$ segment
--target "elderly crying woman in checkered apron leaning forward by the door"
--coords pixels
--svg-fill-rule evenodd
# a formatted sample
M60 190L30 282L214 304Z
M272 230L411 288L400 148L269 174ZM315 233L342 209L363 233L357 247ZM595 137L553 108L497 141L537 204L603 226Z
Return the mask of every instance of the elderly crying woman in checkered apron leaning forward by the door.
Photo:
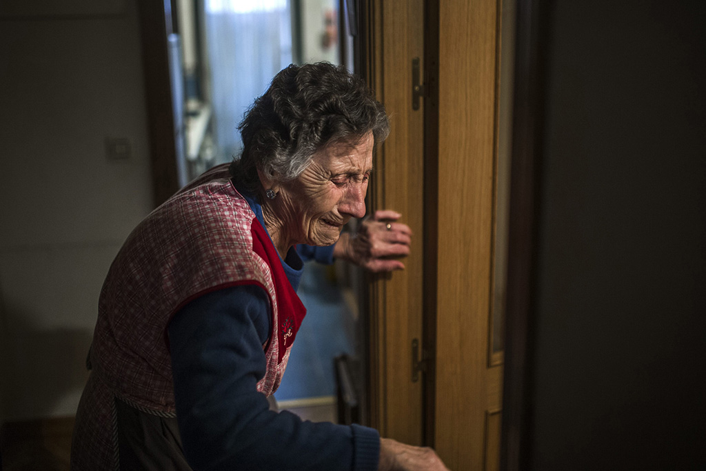
M153 211L112 264L73 470L445 469L429 449L268 405L305 314L300 252L402 268L378 257L407 254L409 228L375 220L397 213L335 244L364 216L373 148L388 128L382 105L343 68L275 76L240 126L239 160Z

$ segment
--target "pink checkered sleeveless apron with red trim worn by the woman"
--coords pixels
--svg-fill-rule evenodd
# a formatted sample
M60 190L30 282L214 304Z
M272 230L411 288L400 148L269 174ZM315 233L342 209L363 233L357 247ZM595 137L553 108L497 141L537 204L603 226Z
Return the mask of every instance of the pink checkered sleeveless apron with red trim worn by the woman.
M267 371L277 390L306 309L268 234L221 165L155 209L130 234L104 282L71 450L73 470L118 467L114 398L175 417L167 324L181 306L225 287L258 285L270 297Z

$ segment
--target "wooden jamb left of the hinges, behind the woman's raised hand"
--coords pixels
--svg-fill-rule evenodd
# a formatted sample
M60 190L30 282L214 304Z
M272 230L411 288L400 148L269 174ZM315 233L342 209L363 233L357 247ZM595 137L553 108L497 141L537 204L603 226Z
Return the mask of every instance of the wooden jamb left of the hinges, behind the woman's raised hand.
M424 381L412 381L412 340L426 349L424 105L412 109L412 59L424 60L424 0L361 1L358 14L358 71L384 103L392 129L376 152L369 210L397 210L414 233L405 270L367 275L367 415L382 436L420 445Z

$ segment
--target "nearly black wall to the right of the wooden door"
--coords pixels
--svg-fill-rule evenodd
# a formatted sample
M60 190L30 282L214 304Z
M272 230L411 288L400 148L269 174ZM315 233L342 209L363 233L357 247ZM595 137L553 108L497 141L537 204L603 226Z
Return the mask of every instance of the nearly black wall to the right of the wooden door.
M706 8L554 1L532 469L706 469Z

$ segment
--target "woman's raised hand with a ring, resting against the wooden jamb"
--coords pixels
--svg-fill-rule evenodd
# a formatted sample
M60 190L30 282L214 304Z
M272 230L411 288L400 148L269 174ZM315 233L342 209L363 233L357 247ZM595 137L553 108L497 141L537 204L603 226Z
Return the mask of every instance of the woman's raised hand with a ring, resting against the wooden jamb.
M394 257L409 255L412 229L397 222L402 215L393 210L377 210L358 225L354 234L341 234L333 256L344 258L374 273L404 270Z

